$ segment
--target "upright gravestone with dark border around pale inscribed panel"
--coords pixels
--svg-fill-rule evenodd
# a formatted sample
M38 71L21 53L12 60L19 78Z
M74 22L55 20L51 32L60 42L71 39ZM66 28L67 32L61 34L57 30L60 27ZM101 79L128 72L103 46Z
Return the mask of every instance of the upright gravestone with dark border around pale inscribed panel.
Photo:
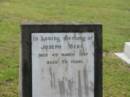
M21 97L102 97L101 25L22 25Z

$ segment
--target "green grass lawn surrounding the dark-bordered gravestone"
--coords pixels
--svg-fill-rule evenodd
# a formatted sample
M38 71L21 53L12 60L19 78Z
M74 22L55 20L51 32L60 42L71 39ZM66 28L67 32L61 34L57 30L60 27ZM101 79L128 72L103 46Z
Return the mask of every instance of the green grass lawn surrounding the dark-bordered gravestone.
M130 0L0 0L0 97L19 97L23 22L103 24L103 95L130 97L130 65L114 55L130 41Z

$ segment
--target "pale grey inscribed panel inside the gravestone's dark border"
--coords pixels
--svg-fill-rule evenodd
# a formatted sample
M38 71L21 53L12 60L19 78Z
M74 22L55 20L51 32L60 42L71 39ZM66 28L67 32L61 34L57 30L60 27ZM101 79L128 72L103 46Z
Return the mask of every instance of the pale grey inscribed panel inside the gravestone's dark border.
M94 97L94 33L32 33L32 97Z

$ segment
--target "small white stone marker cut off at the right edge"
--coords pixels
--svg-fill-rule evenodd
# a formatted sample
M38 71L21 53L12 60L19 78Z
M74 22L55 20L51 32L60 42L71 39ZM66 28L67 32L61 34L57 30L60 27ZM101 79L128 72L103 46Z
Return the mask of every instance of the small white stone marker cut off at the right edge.
M125 42L124 51L115 53L119 58L130 64L130 42Z

